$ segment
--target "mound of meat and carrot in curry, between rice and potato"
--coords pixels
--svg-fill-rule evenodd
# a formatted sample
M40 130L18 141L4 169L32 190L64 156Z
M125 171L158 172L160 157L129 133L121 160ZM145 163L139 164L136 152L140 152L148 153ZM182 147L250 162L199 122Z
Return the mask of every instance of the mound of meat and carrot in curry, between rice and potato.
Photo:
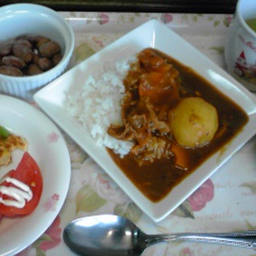
M168 125L169 105L179 99L175 77L178 70L150 49L138 55L124 79L122 126L111 125L108 134L119 140L135 142L131 154L138 164L172 154Z

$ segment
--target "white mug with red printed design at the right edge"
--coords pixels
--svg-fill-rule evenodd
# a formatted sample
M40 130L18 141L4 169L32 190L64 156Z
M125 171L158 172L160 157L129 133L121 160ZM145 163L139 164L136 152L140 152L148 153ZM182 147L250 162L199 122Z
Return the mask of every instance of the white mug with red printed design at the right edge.
M239 0L226 37L225 60L228 72L256 92L256 32L246 24L250 18L256 18L256 0Z

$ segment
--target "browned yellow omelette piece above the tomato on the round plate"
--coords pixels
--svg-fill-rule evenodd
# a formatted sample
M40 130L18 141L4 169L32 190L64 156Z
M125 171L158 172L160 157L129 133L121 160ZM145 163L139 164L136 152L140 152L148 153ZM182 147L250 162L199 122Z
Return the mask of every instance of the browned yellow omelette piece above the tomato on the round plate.
M12 151L15 149L26 150L28 142L26 139L10 134L0 126L0 166L6 166L12 162Z

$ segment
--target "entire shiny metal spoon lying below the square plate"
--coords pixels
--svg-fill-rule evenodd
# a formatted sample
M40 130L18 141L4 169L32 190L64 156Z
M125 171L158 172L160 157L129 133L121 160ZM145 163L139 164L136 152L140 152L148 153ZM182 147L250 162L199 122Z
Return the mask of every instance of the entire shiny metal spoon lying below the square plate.
M112 214L73 220L64 229L63 239L73 252L87 256L139 256L151 244L174 240L210 242L256 249L256 230L148 235L130 220Z

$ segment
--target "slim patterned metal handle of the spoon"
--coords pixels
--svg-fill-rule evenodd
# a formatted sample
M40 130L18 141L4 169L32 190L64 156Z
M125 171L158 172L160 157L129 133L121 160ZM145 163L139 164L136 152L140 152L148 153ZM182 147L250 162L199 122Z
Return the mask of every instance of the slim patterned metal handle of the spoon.
M256 230L227 233L173 233L148 235L148 246L157 242L185 240L209 242L256 249Z

